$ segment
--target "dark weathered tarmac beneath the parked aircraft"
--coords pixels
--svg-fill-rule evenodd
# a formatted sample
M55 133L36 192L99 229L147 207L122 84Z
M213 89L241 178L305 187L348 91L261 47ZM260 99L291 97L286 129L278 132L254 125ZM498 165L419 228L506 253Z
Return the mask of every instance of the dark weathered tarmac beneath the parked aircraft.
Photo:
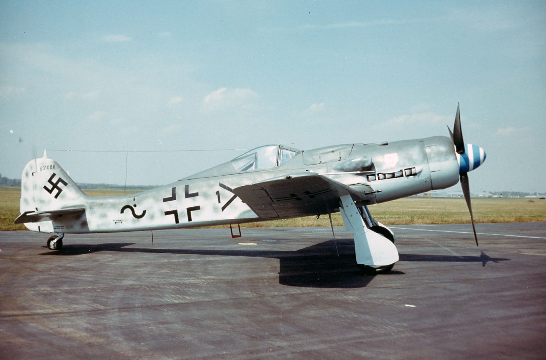
M0 358L546 357L546 223L392 226L375 277L336 227L0 232Z

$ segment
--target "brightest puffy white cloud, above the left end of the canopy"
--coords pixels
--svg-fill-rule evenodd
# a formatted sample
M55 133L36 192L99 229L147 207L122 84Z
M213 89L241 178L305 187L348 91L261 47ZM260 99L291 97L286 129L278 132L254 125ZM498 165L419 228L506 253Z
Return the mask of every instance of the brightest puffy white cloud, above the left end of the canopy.
M258 94L245 88L219 88L203 99L205 110L223 110L227 108L251 109L256 106Z

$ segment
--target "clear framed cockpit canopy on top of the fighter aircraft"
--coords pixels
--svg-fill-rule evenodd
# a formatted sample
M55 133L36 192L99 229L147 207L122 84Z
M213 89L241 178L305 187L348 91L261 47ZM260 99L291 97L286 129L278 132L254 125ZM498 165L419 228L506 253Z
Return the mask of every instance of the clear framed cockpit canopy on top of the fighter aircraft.
M282 145L264 145L236 157L232 164L239 172L271 169L281 166L300 152Z

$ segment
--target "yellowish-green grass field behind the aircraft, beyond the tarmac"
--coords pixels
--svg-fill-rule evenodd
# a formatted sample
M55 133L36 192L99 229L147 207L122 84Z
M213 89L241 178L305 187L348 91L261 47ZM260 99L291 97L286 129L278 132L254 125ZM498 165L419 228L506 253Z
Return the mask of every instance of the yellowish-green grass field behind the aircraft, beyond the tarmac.
M134 190L134 189L130 189ZM90 196L123 195L123 190L84 190ZM128 192L130 194L134 191ZM19 216L21 189L0 187L0 230L26 230L15 225ZM369 207L373 217L385 225L403 224L461 224L470 222L464 199L438 197L407 197ZM546 200L538 199L472 199L474 220L477 223L512 223L546 221ZM342 226L339 213L332 215L334 226ZM261 223L242 224L244 227L330 226L328 216L320 219L306 217Z

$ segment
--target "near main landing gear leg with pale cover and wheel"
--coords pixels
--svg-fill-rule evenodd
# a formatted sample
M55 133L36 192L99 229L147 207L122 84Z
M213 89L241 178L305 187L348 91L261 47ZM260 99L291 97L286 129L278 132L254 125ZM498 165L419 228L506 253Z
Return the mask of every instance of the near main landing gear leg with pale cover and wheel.
M354 234L354 253L358 267L367 274L389 272L398 261L394 234L373 220L366 207L354 205L351 195L340 196L340 212L345 228Z

